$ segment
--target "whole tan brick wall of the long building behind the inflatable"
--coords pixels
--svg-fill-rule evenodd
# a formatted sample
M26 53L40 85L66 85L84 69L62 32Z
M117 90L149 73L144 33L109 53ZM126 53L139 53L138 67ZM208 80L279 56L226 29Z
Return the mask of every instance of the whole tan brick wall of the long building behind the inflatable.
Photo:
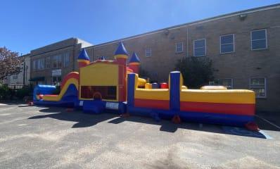
M280 9L270 9L248 13L245 20L239 15L209 22L195 23L183 27L172 28L169 33L153 33L123 39L132 54L136 51L141 67L147 70L153 79L159 82L167 81L170 71L174 70L176 61L184 56L193 56L193 40L206 39L206 55L213 61L217 69L215 77L233 78L234 88L249 89L250 77L267 78L267 98L257 99L257 110L280 111ZM267 29L268 49L261 51L250 50L250 31ZM189 38L188 38L189 32ZM235 52L219 54L219 36L234 34ZM175 53L176 42L184 43L184 51ZM189 44L189 46L187 46ZM152 56L145 56L145 49L152 49ZM107 56L113 59L117 42L91 47L91 59ZM189 49L189 54L187 54ZM88 49L89 50L89 49ZM93 50L93 52L92 52ZM260 68L260 69L257 69Z

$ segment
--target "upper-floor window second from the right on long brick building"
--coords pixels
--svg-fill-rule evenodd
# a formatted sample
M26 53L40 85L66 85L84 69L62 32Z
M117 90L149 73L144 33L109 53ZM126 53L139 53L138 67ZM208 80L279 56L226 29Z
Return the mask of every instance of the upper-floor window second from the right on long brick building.
M219 37L219 53L227 54L234 52L234 34L231 35L223 35Z

